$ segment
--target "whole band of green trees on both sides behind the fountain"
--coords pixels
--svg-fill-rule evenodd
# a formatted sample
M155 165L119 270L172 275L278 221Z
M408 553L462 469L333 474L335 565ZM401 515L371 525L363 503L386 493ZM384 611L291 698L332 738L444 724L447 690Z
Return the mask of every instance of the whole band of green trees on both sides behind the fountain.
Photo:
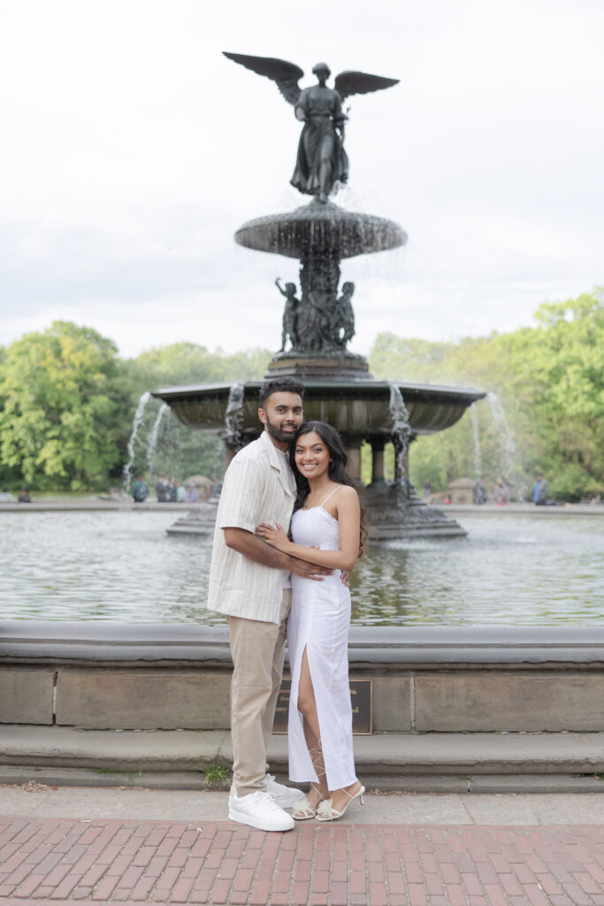
M196 343L121 359L88 327L55 322L0 347L0 480L90 488L120 482L140 395L177 384L261 378L266 350L226 354ZM604 492L604 290L542 304L532 327L458 342L381 333L369 354L379 379L473 386L488 391L453 428L418 438L411 477L444 490L457 477L497 477L527 495L534 470L551 494L577 500ZM149 400L135 445L135 471L180 479L222 471L219 439L180 425ZM503 414L504 413L504 414ZM165 416L165 417L164 417ZM476 439L478 444L476 445ZM478 448L480 456L478 456ZM149 475L149 477L152 477Z

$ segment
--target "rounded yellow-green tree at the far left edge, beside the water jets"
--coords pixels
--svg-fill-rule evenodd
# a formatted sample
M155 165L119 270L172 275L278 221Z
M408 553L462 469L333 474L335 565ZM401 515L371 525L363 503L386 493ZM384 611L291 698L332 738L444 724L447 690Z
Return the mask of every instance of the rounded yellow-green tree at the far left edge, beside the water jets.
M99 486L119 458L116 347L57 321L5 350L0 450L34 487Z

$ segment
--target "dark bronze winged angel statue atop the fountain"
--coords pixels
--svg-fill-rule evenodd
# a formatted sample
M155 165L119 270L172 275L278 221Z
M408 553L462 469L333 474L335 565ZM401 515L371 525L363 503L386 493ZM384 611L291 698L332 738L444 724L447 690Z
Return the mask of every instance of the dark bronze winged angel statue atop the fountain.
M398 79L347 70L336 76L334 88L328 88L326 82L331 75L330 68L326 63L317 63L312 72L318 84L302 89L299 82L304 72L295 63L274 57L223 53L229 60L276 82L285 100L292 104L297 119L303 120L298 158L290 181L299 192L314 195L324 204L336 184L345 183L348 179L348 158L344 150L344 123L347 117L342 111L342 101L350 94L390 88L398 84Z

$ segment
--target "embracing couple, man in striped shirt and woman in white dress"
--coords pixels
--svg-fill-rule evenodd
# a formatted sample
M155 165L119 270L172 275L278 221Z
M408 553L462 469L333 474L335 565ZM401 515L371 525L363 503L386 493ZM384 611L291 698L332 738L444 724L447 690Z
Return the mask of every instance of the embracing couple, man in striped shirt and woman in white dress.
M286 377L260 390L264 431L226 471L207 602L225 614L235 666L229 818L264 831L340 818L365 792L352 755L348 573L366 533L340 436L303 422L303 392ZM310 782L306 795L267 773L286 637L290 779Z

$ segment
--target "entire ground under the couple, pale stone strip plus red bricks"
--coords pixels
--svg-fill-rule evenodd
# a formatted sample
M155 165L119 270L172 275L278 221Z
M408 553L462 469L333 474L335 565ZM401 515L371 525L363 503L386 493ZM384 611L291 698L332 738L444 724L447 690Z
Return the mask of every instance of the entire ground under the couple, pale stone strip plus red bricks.
M375 794L264 834L227 794L0 786L3 906L604 904L604 797Z

